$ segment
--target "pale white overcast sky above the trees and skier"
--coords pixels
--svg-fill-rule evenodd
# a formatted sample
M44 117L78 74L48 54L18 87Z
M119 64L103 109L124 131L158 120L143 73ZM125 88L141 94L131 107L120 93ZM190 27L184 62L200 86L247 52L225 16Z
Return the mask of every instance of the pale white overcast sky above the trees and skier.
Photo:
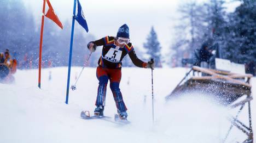
M203 1L203 0L201 0ZM24 0L40 23L43 0ZM72 20L73 0L50 0L62 23ZM174 20L177 17L178 0L80 0L89 33L100 39L117 34L118 28L126 23L130 27L133 45L143 47L150 28L154 26L163 53L168 52L173 36ZM48 8L46 7L46 10ZM65 26L64 26L65 28ZM135 47L136 48L136 47Z

